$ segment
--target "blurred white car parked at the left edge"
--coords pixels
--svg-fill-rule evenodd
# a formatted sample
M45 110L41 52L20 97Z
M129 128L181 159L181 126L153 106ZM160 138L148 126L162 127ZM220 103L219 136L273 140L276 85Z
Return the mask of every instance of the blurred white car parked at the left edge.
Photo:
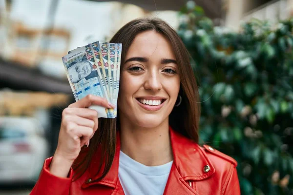
M0 117L0 184L36 182L48 151L38 120Z

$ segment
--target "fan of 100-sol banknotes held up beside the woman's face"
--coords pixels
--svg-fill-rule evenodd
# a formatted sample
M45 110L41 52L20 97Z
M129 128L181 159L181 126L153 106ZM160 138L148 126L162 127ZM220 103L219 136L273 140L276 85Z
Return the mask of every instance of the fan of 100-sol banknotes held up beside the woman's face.
M69 51L62 57L65 72L76 101L88 94L106 98L117 108L121 43L99 41ZM115 118L117 109L93 105L98 117Z

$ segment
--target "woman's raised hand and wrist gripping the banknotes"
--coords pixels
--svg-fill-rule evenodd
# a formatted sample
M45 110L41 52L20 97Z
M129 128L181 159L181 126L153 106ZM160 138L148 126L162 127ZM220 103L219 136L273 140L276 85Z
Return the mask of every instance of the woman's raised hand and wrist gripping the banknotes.
M105 98L88 95L63 110L58 145L50 166L50 173L66 177L81 147L98 129L98 113L91 105L114 108Z

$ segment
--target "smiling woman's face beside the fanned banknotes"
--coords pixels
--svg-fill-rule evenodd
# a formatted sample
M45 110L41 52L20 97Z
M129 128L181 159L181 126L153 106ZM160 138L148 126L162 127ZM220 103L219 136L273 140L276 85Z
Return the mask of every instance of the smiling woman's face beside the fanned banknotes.
M153 31L138 34L121 68L121 120L145 128L168 121L180 88L178 65L169 41Z

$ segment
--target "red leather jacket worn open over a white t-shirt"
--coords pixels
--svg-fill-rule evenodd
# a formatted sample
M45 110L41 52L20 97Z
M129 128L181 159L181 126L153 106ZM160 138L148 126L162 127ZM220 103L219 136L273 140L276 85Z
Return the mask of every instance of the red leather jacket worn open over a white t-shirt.
M240 195L237 162L230 156L204 145L199 146L170 128L173 165L164 195ZM118 179L120 138L108 174L95 182L99 156L94 156L83 176L71 181L49 172L52 157L44 162L39 180L30 195L124 195Z

